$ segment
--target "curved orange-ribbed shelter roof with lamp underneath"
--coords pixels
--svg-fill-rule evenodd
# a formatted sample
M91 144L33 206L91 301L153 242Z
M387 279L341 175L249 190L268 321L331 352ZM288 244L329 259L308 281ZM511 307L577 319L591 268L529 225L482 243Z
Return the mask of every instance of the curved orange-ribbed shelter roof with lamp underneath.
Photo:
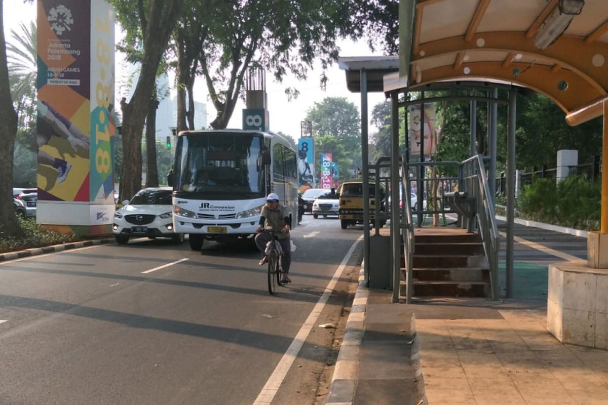
M410 89L502 81L551 98L572 125L603 114L607 0L401 0L399 6L399 72Z

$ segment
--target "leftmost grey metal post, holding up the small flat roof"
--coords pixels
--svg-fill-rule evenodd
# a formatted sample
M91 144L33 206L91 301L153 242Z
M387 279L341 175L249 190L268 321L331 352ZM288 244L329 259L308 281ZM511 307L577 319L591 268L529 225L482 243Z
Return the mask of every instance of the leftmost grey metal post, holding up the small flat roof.
M363 243L364 272L368 285L370 282L370 184L368 165L367 137L367 71L361 69L361 160L363 173Z

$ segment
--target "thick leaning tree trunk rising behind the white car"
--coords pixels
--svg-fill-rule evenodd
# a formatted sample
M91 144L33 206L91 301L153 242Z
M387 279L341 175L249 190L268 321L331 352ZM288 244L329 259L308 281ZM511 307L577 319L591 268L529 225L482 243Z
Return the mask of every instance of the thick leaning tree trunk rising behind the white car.
M120 199L131 199L142 187L142 132L148 105L156 83L156 71L167 49L171 31L177 21L183 0L154 0L144 32L144 54L139 80L133 97L122 109L123 175L120 177Z

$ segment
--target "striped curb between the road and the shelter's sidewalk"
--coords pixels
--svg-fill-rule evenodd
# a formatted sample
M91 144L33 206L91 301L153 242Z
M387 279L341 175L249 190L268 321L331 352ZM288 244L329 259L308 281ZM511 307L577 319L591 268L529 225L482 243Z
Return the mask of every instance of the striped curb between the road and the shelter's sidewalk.
M357 387L359 373L359 353L363 341L363 325L369 290L365 287L364 265L359 271L359 284L354 294L353 305L346 321L344 338L340 344L340 352L336 361L334 373L331 376L330 393L325 405L352 405L354 390Z

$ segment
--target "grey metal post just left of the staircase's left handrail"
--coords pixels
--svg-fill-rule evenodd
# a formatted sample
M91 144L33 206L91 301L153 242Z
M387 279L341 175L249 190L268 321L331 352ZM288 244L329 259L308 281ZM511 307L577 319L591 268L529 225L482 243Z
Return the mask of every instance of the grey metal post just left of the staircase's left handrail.
M390 95L391 122L390 122L390 230L393 247L393 302L399 301L399 273L401 273L401 232L399 227L399 93ZM404 173L403 175L406 175ZM406 197L403 191L403 198Z

